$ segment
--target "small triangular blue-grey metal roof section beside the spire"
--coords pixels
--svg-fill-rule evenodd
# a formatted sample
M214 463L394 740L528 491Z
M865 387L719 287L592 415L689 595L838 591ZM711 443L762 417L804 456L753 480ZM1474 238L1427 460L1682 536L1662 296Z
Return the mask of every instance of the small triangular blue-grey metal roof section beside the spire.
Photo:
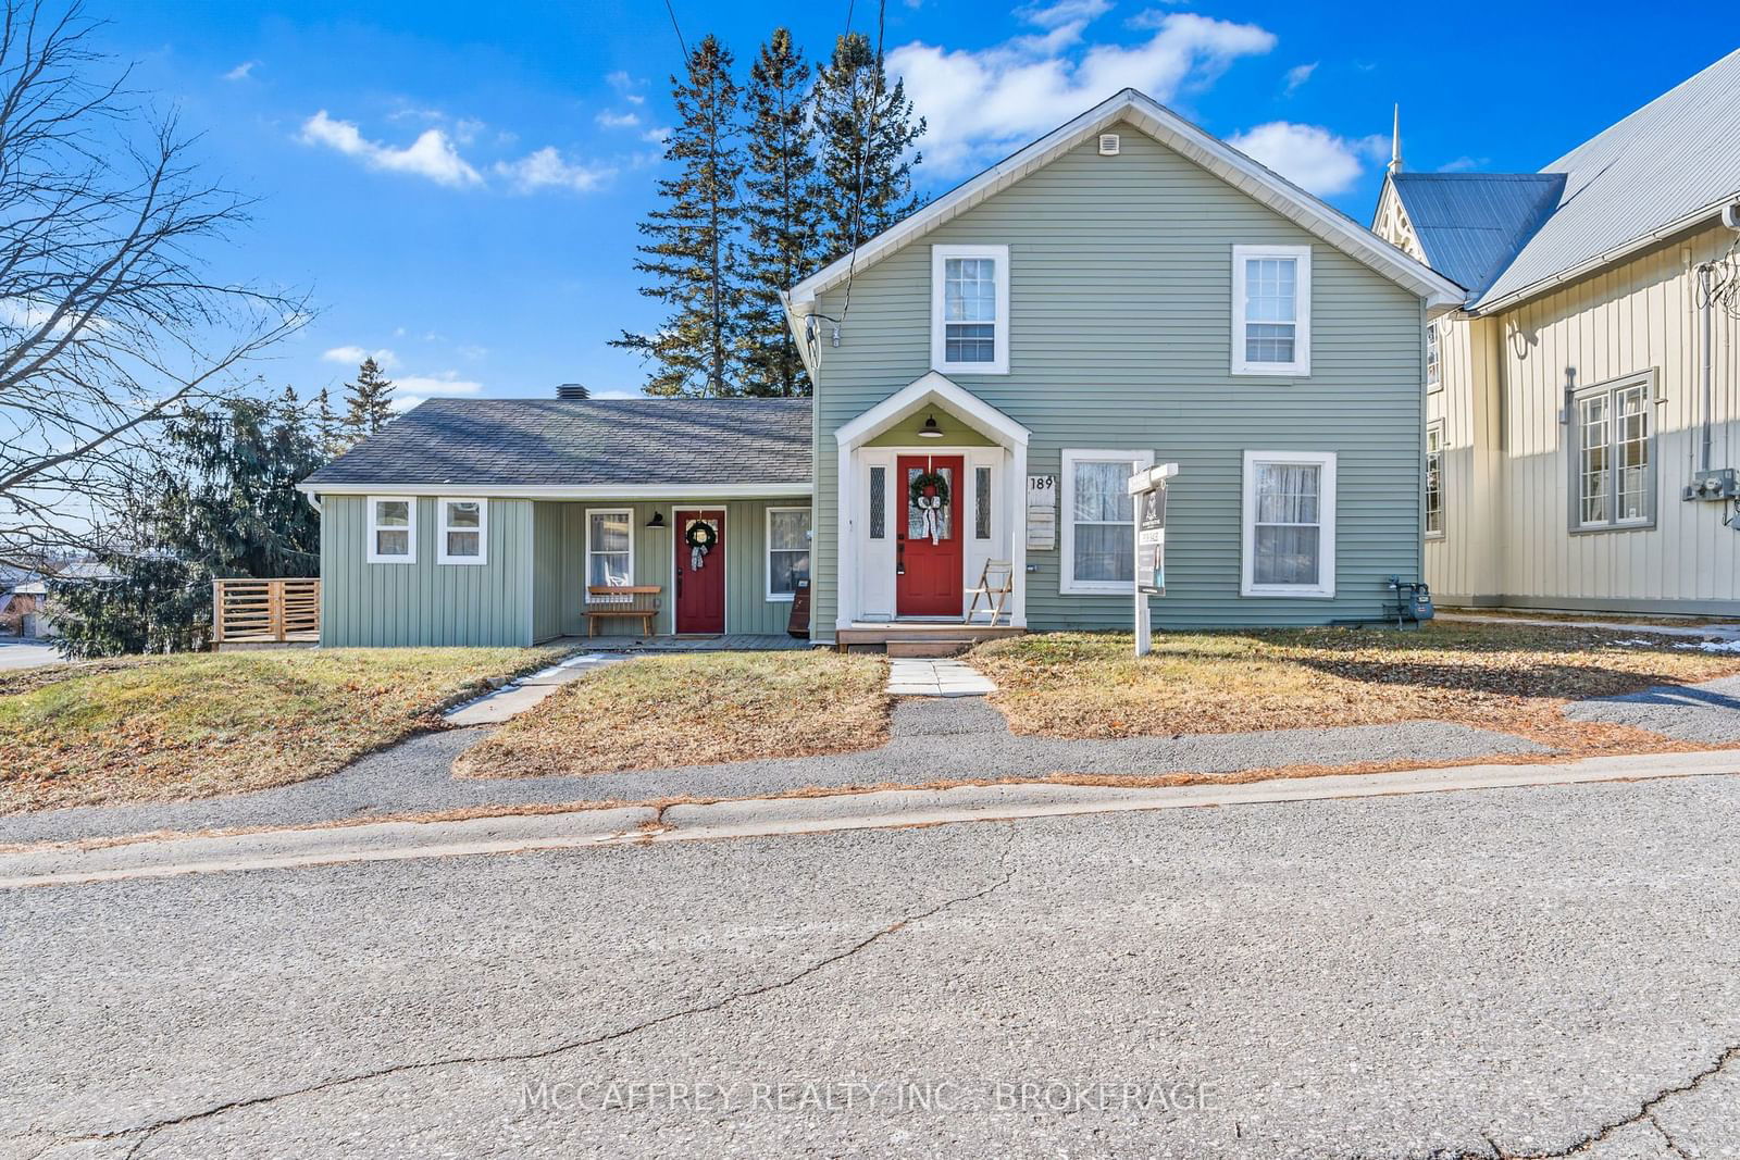
M1559 205L1564 174L1390 174L1425 261L1474 301Z

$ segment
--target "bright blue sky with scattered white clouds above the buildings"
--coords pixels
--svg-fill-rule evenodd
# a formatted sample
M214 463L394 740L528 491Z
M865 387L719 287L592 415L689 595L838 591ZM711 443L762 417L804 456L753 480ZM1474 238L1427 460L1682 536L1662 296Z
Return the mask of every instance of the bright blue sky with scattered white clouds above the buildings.
M673 0L741 63L776 24L825 54L847 0ZM661 172L659 0L118 3L92 14L136 82L261 198L226 277L310 289L318 318L266 367L334 390L385 351L411 397L637 393L606 346L651 329L632 270ZM875 33L873 0L854 24ZM1232 139L1361 221L1402 106L1409 169L1533 170L1740 43L1733 5L889 0L886 45L940 193L1122 85Z

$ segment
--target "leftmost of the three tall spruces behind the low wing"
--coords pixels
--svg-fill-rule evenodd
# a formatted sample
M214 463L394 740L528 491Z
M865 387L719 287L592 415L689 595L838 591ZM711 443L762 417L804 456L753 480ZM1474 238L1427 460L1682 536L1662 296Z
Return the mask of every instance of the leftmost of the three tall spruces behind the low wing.
M663 207L647 214L635 270L651 277L640 292L670 310L656 334L633 334L611 346L640 351L654 367L647 395L741 395L743 289L736 270L743 144L738 139L738 85L731 52L708 35L687 61L687 78L672 77L677 127L665 160L682 170L658 183Z

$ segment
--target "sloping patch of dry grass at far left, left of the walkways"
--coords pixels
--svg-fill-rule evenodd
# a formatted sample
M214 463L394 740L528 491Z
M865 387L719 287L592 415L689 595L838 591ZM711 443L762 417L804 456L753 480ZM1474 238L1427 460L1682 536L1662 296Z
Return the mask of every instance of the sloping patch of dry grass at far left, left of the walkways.
M0 814L181 802L336 772L559 649L296 649L0 673Z

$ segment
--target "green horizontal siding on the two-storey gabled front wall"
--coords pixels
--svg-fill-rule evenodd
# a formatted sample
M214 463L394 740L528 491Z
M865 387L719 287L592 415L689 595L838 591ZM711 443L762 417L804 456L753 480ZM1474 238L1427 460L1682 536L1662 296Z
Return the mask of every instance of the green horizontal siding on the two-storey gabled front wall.
M1065 447L1152 449L1180 464L1155 624L1364 617L1387 576L1418 577L1420 299L1138 129L1122 137L1121 157L1088 141L858 271L816 390L820 637L835 621L833 431L929 370L933 243L1009 245L1011 374L950 377L1032 430L1030 473L1058 471ZM1237 243L1312 247L1310 377L1228 372ZM820 310L839 317L842 290ZM1338 454L1335 600L1239 595L1246 449ZM1060 595L1058 551L1027 558L1030 628L1129 626L1129 597Z

